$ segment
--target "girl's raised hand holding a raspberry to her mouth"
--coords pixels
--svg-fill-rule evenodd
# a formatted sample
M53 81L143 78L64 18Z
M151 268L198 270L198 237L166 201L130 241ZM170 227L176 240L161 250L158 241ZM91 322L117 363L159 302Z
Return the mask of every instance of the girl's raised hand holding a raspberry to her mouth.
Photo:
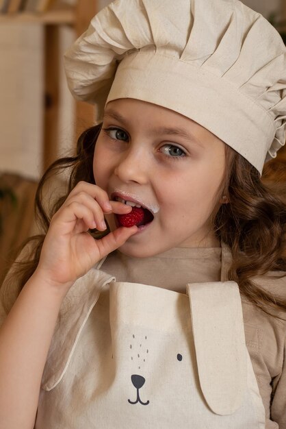
M79 182L51 219L36 271L51 284L65 284L69 288L96 262L123 245L138 228L120 227L100 240L95 240L88 230L106 229L102 224L104 213L122 215L131 210L119 201L109 201L99 186Z

